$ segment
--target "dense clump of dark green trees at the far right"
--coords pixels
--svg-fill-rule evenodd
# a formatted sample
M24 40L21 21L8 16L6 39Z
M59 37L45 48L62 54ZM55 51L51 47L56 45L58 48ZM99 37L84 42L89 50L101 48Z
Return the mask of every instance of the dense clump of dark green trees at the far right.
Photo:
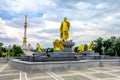
M112 36L110 39L106 40L103 40L102 38L95 40L93 50L101 55L102 47L104 47L105 55L120 56L120 37L116 38L115 36Z

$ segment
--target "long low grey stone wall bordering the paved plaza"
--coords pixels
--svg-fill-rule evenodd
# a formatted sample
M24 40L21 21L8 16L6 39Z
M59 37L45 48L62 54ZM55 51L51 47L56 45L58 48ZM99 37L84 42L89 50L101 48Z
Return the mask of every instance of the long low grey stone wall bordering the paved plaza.
M25 72L48 72L60 70L74 70L89 67L120 66L120 60L80 60L59 62L26 62L19 59L11 59L9 64Z

